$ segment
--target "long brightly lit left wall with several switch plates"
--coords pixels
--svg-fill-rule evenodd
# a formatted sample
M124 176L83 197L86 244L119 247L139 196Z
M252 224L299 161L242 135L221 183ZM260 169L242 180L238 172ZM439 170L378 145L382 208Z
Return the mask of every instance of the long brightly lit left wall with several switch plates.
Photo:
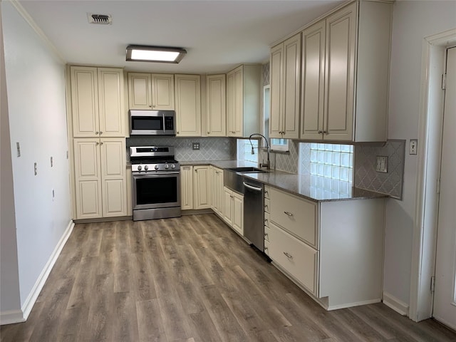
M10 2L0 4L24 309L71 223L65 66ZM21 157L16 157L16 142ZM38 175L33 173L34 162ZM3 249L3 239L1 244Z

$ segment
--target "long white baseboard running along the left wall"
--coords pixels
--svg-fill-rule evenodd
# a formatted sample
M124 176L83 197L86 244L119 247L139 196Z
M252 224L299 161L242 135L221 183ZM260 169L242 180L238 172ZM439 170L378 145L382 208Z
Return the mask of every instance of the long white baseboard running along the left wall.
M23 312L23 319L20 322L24 322L28 318L31 309L33 309L33 305L35 305L38 295L43 289L44 283L46 283L46 280L48 279L48 276L51 273L54 264L56 264L58 256L62 252L63 246L65 246L68 237L70 237L71 232L73 232L73 227L74 222L71 220L70 223L68 223L68 227L66 227L65 232L63 232L61 239L58 241L56 248L53 250L51 257L46 263L46 266L44 266L44 269L41 271L40 276L38 276L38 279L36 279L36 283L33 286L33 289L30 291L30 294L28 294L26 301L24 301L24 305L21 308ZM19 321L14 323L19 323Z

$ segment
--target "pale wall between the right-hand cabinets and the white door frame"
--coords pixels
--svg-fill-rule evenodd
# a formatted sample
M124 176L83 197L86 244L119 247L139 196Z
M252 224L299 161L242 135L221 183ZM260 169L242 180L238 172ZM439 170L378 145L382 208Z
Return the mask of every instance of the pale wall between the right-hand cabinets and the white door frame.
M408 144L418 138L422 43L456 27L456 1L399 0L393 8L388 138L408 142L403 201L387 204L384 291L408 305L418 161L408 155Z

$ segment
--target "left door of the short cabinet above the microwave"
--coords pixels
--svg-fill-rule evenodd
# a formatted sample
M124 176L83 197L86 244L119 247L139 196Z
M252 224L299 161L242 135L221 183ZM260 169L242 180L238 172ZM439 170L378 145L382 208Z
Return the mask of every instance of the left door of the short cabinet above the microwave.
M152 81L149 73L128 73L128 108L152 109Z

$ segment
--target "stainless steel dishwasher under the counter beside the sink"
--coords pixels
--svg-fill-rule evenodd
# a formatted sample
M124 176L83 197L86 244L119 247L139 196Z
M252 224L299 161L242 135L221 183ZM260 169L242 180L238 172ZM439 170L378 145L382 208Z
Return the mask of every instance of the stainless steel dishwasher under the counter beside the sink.
M244 186L244 237L264 252L264 186L242 177Z

